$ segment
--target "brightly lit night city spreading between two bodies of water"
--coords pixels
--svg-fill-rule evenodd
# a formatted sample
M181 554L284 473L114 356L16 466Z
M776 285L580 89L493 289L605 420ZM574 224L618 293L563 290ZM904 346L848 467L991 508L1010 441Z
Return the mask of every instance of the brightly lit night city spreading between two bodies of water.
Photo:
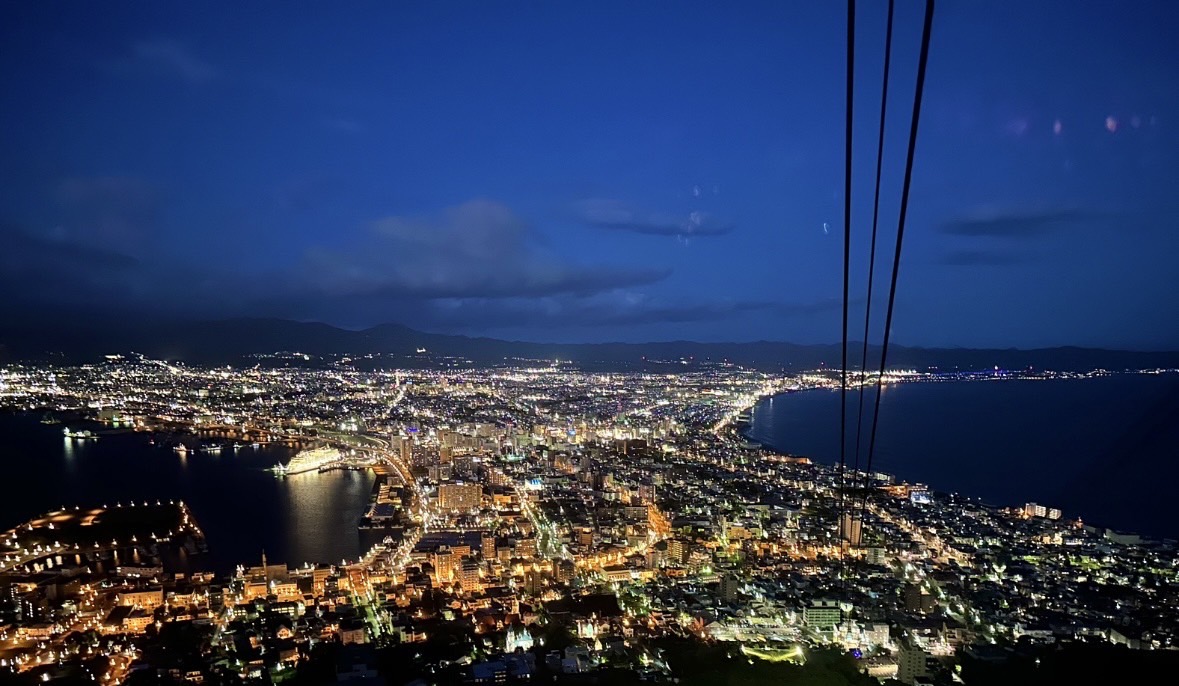
M180 460L283 442L299 451L275 479L376 475L356 522L375 542L337 565L259 550L230 575L203 572L217 541L180 502L67 507L6 532L0 667L279 681L307 678L330 646L355 660L338 667L344 680L375 675L381 651L432 646L411 668L442 681L623 668L667 680L674 641L696 640L768 664L854 651L868 677L915 684L1003 644L1179 646L1174 541L880 473L844 475L871 493L841 526L836 468L743 434L757 400L837 388L832 372L442 367L113 356L0 369L0 402L64 423L66 441L184 436L192 455ZM969 378L1012 376L1086 375Z

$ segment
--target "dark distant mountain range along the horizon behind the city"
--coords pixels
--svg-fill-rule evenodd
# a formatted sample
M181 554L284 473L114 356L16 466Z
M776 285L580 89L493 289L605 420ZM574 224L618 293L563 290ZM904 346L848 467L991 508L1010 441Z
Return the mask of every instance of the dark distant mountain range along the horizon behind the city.
M424 354L419 354L424 349ZM598 367L652 365L666 361L722 361L759 369L838 367L838 344L751 343L527 343L427 334L400 324L361 331L289 319L236 318L204 322L121 322L64 317L51 323L0 322L0 361L90 362L103 355L140 352L153 358L205 364L248 362L246 356L278 351L310 356L381 354L390 367L436 364L440 357L477 363L506 358L565 360ZM859 347L849 350L858 360ZM878 360L878 349L871 356ZM964 349L889 348L889 368L943 370L1003 369L1147 369L1179 368L1179 351L1144 352L1092 348Z

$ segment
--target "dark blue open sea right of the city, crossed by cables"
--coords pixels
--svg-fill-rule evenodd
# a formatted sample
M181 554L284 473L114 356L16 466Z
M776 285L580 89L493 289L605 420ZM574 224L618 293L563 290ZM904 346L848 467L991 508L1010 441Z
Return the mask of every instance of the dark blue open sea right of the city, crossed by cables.
M856 402L849 391L849 466ZM758 403L747 435L838 463L838 427L839 393L805 390ZM996 506L1033 501L1094 526L1179 537L1179 375L888 385L872 469Z

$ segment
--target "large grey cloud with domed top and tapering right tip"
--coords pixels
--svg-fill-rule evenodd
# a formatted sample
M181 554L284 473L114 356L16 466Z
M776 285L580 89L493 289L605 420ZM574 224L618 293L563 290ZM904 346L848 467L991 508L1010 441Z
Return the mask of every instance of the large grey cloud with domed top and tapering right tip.
M304 270L320 292L389 297L544 297L646 285L667 270L586 265L544 250L508 207L472 200L434 216L376 220L345 250L320 249Z

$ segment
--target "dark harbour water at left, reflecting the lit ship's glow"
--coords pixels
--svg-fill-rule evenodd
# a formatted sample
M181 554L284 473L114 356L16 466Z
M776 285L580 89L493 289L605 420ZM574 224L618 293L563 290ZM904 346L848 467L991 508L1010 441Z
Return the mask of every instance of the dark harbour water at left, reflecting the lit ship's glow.
M70 440L62 424L40 418L0 413L0 530L62 507L183 500L209 545L202 568L257 565L263 549L271 563L290 566L361 555L356 525L368 507L370 471L278 479L265 469L290 459L285 447L182 456L152 446L146 434Z

